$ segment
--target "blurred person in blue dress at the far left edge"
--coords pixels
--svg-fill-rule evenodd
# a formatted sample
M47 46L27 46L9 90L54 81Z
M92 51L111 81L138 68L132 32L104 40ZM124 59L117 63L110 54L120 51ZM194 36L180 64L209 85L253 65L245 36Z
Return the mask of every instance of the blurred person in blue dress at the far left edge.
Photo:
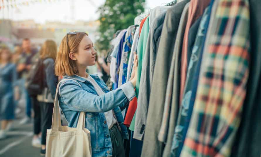
M19 98L16 86L16 66L11 63L11 52L8 48L0 50L0 139L6 137L6 132L12 128L15 118L15 101Z

